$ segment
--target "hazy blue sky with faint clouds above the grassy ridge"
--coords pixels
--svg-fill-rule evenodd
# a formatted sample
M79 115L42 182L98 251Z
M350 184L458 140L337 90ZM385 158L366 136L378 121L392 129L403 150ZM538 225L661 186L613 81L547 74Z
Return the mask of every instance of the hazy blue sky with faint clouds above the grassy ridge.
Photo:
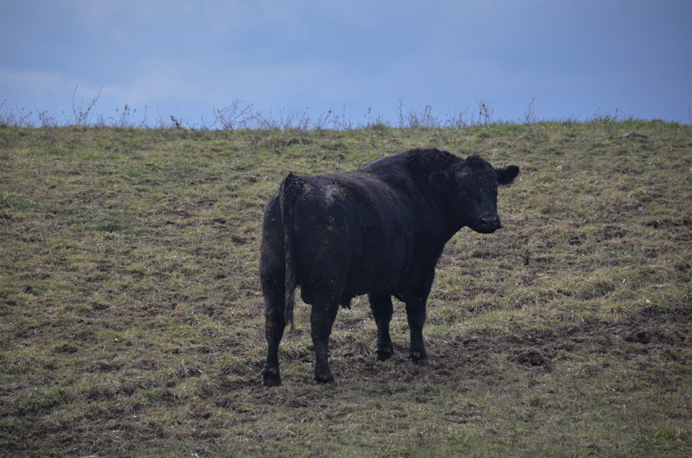
M3 109L690 123L692 1L0 0ZM116 109L118 111L116 111Z

